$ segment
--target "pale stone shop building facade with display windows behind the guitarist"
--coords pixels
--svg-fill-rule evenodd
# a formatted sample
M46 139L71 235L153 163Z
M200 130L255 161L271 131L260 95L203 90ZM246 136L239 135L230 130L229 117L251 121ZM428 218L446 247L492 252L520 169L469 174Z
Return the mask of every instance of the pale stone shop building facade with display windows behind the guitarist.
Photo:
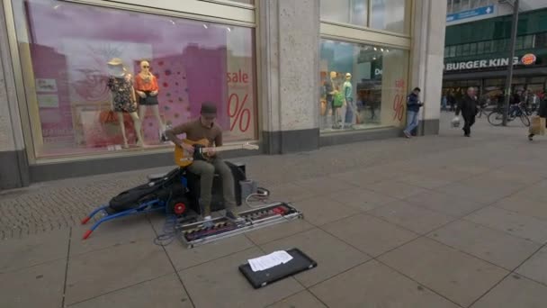
M2 0L0 187L172 165L161 133L202 102L217 105L225 143L265 154L399 136L408 90L420 86L426 102L441 93L445 10L434 0ZM436 107L423 108L419 133L437 133Z

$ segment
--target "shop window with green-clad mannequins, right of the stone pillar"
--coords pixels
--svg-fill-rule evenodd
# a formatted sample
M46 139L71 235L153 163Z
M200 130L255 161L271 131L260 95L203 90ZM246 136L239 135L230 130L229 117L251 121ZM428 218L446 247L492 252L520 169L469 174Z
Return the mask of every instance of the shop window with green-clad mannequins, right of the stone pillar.
M408 51L322 40L319 71L321 132L404 122Z

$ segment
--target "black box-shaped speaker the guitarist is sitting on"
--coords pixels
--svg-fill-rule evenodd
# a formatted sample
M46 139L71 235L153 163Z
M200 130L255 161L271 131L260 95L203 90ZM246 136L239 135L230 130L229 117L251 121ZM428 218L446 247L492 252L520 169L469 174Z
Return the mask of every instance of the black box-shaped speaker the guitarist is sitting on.
M241 185L239 181L244 181L247 179L246 169L244 164L234 164L229 161L225 161L230 170L232 171L232 176L234 177L234 189L236 195L236 204L241 205ZM192 173L190 170L186 169L186 183L188 185L188 196L190 199L190 208L195 213L202 213L200 208L200 176ZM211 212L216 212L223 210L224 198L222 197L222 179L218 174L215 174L212 181L212 198L211 198Z

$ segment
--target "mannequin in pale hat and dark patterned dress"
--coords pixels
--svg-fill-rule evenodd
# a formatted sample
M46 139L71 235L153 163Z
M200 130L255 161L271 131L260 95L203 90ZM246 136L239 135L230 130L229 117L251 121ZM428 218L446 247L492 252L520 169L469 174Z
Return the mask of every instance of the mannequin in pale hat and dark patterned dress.
M108 62L110 76L108 77L108 88L111 90L111 108L118 113L121 135L123 136L123 148L129 148L127 136L125 135L125 125L123 123L123 113L130 113L131 119L135 123L137 132L137 145L143 146L142 135L140 133L140 119L137 114L137 103L135 100L135 91L133 90L133 80L131 74L125 69L121 59L114 58Z

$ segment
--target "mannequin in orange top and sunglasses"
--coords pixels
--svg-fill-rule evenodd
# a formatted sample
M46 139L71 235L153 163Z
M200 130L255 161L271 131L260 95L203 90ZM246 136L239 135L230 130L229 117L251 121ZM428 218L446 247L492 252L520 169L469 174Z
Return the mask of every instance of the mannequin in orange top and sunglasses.
M148 61L140 61L140 73L135 77L135 92L137 92L139 102L139 118L144 121L147 108L152 109L159 128L159 140L166 141L164 135L166 125L161 120L159 108L157 106L158 90L159 86L157 86L157 78L150 73L150 64Z

